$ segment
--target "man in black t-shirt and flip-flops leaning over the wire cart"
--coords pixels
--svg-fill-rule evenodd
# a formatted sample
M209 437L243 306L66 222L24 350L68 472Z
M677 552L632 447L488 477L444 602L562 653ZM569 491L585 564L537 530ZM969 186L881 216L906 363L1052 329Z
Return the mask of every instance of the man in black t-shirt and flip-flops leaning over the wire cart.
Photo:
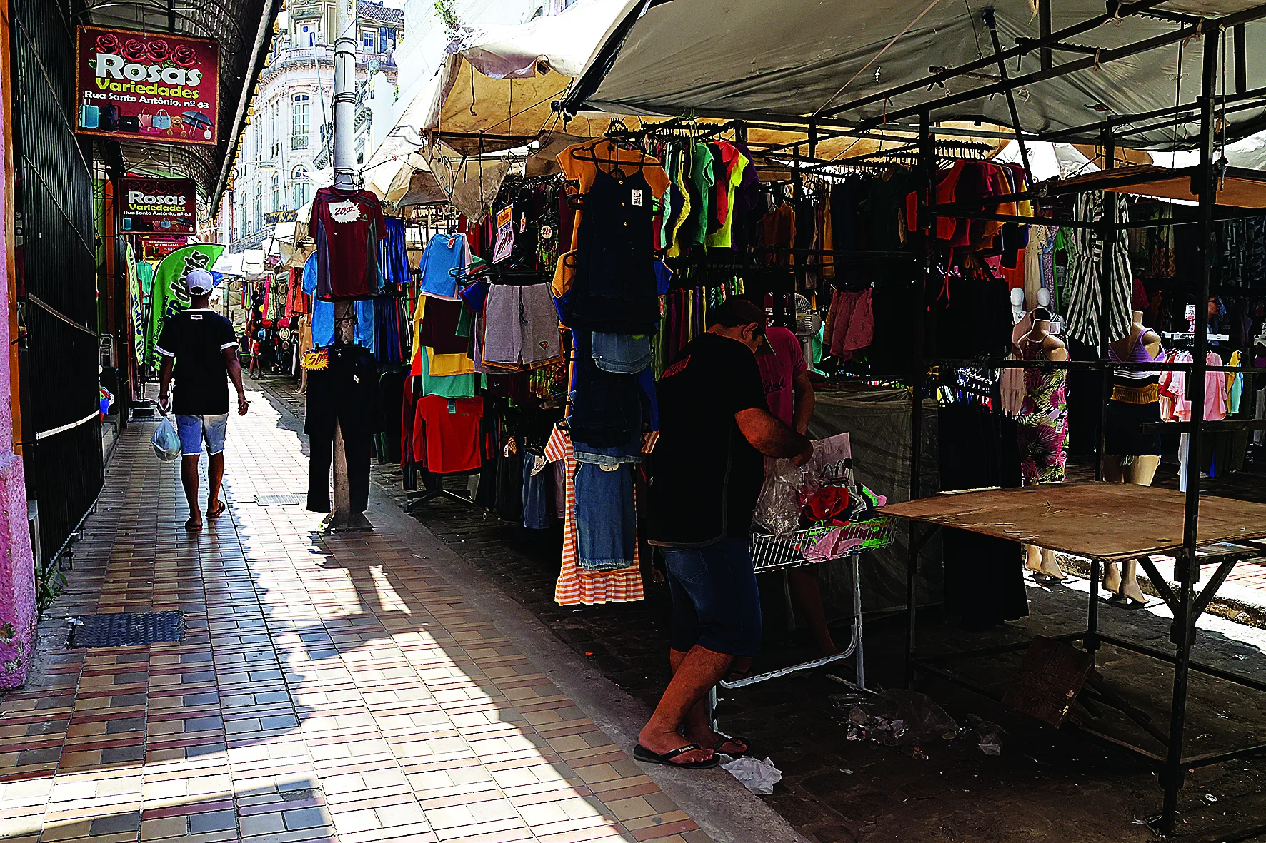
M761 601L747 547L761 492L763 457L813 454L804 435L768 411L757 353L765 313L730 299L660 380L660 438L651 454L651 544L668 568L672 646L668 684L638 735L642 761L714 767L717 752L739 756L747 742L711 729L703 697L734 665L751 666L761 644ZM681 746L681 735L693 742Z

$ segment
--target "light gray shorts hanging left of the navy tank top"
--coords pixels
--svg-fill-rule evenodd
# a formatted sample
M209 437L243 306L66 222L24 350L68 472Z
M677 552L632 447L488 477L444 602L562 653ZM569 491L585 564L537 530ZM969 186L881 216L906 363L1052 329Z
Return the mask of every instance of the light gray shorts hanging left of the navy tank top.
M562 353L558 310L548 284L494 284L484 303L484 362L543 363Z

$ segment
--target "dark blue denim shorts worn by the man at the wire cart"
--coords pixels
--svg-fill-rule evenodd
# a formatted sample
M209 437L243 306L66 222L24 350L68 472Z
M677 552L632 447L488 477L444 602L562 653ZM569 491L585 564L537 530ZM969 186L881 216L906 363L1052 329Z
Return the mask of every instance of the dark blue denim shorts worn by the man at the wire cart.
M684 653L699 644L728 656L758 656L761 594L747 539L660 549L672 594L672 649Z

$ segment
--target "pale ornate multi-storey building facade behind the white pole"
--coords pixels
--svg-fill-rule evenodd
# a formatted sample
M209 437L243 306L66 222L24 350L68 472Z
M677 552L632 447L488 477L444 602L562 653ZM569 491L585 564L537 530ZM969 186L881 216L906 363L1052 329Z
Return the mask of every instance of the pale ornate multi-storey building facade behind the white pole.
M318 187L333 181L333 22L332 0L291 0L279 18L222 208L229 252L266 246L279 222L294 219ZM356 149L363 162L379 140L375 128L391 125L386 115L404 15L381 0L360 0L356 29ZM375 109L382 114L377 120Z

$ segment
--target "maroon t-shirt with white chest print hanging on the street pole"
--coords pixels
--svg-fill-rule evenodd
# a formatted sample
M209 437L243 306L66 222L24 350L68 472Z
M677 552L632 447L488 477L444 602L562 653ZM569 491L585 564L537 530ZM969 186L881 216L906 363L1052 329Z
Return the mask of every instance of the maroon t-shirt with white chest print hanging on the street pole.
M316 297L368 299L379 280L379 240L387 235L379 197L367 190L322 187L313 199L316 240Z

